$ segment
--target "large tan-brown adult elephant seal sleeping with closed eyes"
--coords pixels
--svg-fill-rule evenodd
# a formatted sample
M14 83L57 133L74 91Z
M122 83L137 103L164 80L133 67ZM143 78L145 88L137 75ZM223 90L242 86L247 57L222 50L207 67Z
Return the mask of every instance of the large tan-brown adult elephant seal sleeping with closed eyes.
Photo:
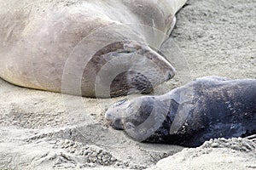
M148 93L174 76L154 48L169 36L185 2L0 0L0 77L87 97L119 96L131 88ZM96 94L96 83L110 94Z

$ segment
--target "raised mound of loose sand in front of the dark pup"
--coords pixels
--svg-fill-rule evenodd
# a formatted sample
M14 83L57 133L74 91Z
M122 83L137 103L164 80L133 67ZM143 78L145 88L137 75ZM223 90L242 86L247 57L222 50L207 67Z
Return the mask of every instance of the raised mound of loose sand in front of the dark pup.
M195 149L160 160L148 170L159 169L253 169L256 143L248 139L211 139Z

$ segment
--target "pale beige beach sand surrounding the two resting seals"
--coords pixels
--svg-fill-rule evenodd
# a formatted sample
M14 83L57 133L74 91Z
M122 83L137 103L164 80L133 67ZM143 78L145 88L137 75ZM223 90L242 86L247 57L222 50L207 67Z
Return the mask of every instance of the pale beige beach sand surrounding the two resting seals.
M177 76L155 94L196 77L256 78L255 8L255 0L189 1L162 47L173 53ZM123 98L85 99L1 79L0 94L0 169L256 168L255 141L248 139L215 139L195 149L133 141L104 120L108 106Z

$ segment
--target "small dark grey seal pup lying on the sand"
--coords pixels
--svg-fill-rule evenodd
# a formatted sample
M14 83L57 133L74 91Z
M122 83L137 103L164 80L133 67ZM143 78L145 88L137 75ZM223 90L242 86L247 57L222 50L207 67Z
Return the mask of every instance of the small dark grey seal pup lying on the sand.
M160 96L119 101L106 112L133 139L195 147L256 133L256 80L203 77Z

